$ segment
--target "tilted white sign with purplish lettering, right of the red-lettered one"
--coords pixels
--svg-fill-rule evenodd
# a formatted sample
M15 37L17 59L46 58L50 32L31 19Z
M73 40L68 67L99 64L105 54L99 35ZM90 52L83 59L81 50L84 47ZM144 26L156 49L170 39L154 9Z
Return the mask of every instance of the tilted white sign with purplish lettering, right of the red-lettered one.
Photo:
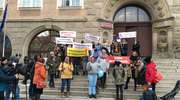
M85 40L88 40L90 42L99 42L100 37L99 36L94 36L90 33L85 33Z

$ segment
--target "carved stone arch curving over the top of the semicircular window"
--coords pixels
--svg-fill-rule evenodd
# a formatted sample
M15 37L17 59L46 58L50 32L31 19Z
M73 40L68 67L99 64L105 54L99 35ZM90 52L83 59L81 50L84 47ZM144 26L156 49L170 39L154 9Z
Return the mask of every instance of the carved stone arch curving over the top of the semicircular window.
M171 12L166 0L106 0L104 18L112 20L114 13L122 6L137 4L145 7L152 15L153 20L169 18Z

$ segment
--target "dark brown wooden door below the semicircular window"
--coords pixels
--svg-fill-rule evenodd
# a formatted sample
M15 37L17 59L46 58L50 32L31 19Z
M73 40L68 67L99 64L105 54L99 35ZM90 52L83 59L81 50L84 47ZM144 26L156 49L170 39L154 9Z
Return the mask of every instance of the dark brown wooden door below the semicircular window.
M117 36L119 32L137 32L136 40L140 42L141 56L148 56L152 54L152 25L151 23L115 23L114 35ZM128 41L128 55L131 54L132 45L135 42L134 38L127 39Z

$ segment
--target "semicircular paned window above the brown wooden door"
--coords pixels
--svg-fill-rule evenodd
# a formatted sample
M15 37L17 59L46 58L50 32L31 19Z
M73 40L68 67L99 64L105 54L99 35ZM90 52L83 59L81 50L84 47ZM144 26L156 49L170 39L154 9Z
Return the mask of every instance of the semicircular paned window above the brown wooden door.
M114 22L150 22L149 14L137 6L126 6L116 12Z

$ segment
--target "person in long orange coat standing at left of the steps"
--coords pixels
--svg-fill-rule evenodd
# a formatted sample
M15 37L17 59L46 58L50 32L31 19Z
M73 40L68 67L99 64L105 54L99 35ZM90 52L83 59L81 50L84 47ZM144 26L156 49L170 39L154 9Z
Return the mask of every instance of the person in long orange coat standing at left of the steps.
M46 87L46 67L43 58L38 58L34 66L33 100L40 100L43 88Z

